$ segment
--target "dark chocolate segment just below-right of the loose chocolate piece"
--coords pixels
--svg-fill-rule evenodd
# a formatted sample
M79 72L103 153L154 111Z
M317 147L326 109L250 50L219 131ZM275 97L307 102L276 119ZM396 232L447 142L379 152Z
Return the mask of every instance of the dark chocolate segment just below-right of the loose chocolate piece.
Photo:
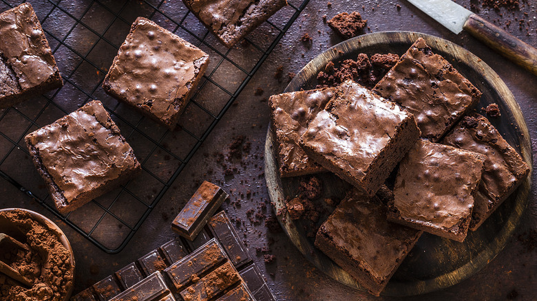
M213 235L218 238L218 241L226 250L227 256L229 256L231 263L236 268L240 268L247 263L251 262L251 257L248 254L248 249L239 234L229 221L226 212L222 211L209 220L209 229Z

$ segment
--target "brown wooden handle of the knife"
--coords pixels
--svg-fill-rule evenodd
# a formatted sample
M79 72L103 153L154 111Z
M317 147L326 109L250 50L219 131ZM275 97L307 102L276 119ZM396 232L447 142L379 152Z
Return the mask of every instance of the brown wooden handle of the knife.
M537 49L534 47L476 14L471 14L463 27L501 55L537 75Z

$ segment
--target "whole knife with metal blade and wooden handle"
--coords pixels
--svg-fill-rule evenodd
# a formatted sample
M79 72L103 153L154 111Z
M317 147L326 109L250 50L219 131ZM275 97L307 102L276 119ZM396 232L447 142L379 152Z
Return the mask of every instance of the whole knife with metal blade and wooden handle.
M537 75L537 49L450 0L408 0L455 34L466 30L499 54Z

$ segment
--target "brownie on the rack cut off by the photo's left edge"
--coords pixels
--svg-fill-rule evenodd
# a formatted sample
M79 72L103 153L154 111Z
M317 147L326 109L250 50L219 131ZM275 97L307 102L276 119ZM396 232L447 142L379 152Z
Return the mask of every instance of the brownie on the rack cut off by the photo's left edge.
M0 14L0 109L63 86L30 3Z

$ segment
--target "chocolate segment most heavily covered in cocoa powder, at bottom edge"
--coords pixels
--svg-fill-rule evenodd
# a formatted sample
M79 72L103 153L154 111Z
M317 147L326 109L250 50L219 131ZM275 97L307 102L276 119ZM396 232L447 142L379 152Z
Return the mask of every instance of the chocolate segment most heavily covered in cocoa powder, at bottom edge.
M229 287L233 287L240 280L241 278L237 270L228 261L191 287L187 287L187 289L181 291L181 297L185 301L211 300L211 298L220 295Z

